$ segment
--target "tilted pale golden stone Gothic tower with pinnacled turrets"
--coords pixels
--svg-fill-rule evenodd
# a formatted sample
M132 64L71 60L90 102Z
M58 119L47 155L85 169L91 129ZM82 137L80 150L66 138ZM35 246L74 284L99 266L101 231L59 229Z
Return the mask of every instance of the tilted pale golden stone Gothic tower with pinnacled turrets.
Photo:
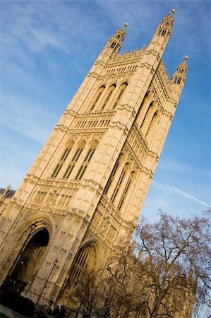
M161 60L173 16L145 49L109 38L1 214L1 284L48 304L132 235L186 81Z

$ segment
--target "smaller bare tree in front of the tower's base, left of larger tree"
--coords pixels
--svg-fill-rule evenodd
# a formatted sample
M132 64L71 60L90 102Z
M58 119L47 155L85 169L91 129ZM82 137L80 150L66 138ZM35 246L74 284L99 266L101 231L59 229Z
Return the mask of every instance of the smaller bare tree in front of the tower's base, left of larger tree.
M145 300L135 288L135 264L130 249L116 248L107 266L85 271L72 295L78 300L79 312L88 318L131 317L140 312Z

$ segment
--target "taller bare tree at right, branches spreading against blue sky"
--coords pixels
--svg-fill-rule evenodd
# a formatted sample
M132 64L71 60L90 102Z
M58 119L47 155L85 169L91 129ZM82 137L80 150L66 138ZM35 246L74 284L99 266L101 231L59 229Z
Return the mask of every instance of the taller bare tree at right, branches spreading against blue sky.
M210 306L210 210L191 218L160 211L153 224L142 218L135 241L148 276L146 317L191 317L194 301L195 310Z

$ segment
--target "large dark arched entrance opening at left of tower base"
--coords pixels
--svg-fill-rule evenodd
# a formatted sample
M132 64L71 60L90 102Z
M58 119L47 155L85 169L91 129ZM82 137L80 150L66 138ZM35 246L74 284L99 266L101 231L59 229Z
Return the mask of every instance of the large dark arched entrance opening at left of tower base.
M4 282L4 289L21 292L30 281L49 242L49 232L40 228L28 237Z

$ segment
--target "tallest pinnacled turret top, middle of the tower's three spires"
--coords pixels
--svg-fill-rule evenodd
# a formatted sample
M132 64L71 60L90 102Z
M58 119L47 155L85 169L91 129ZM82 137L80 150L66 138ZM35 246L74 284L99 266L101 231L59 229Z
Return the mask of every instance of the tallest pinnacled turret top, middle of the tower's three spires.
M175 10L172 9L168 16L162 20L162 23L158 25L150 45L147 47L148 52L153 51L155 54L158 54L159 58L162 57L164 49L167 46L167 42L171 37L172 27L174 25L174 12Z

